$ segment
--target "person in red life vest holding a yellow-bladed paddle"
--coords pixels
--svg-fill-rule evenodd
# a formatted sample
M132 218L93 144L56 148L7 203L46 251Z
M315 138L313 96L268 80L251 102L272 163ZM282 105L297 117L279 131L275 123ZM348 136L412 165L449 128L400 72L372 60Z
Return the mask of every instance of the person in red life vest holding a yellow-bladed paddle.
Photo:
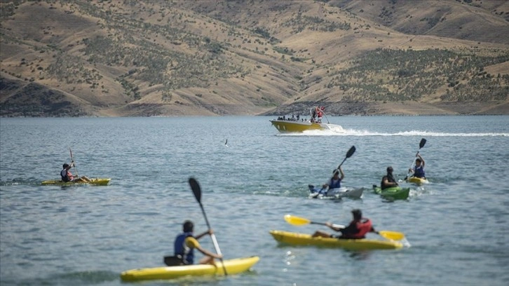
M341 232L341 236L334 236L333 234L326 233L325 231L316 231L313 233L313 237L323 238L341 238L341 239L361 239L366 238L366 233L374 232L371 220L362 217L362 212L358 209L352 210L353 220L344 229L333 226L330 222L325 223L333 231Z

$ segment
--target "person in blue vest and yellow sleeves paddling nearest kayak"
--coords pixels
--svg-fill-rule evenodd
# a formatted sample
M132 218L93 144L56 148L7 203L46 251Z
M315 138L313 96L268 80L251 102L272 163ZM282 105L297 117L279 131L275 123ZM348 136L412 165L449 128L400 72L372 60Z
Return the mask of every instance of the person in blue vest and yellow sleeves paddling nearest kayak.
M223 256L203 249L200 243L198 243L198 239L205 236L205 234L211 235L214 232L212 229L209 229L208 231L205 231L198 236L193 236L193 229L193 222L186 220L182 225L183 232L175 238L175 256L182 257L182 262L184 264L194 264L194 250L196 249L205 255L205 257L200 259L199 264L215 264L214 259L220 259Z

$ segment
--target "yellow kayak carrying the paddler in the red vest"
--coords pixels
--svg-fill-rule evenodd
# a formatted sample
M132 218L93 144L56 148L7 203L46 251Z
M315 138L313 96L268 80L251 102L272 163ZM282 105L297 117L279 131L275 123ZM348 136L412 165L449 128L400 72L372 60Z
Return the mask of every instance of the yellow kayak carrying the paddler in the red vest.
M313 238L311 234L292 233L289 231L269 231L269 233L279 243L289 245L339 247L346 250L395 250L403 247L402 243L394 240Z

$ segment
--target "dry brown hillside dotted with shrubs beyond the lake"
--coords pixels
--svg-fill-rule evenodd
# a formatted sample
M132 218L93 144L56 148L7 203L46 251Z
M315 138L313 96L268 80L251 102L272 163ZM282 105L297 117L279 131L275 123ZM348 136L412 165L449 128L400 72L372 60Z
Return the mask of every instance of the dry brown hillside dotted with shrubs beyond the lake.
M0 116L509 114L508 1L1 1Z

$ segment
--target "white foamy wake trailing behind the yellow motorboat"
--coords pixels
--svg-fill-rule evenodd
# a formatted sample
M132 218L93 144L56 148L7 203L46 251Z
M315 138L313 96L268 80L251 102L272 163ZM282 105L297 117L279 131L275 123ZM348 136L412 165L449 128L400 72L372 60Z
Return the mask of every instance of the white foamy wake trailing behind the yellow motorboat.
M451 133L422 130L400 131L395 133L373 132L369 130L344 129L341 125L327 124L327 130L306 130L301 133L283 133L278 136L421 136L421 137L509 137L509 133Z

